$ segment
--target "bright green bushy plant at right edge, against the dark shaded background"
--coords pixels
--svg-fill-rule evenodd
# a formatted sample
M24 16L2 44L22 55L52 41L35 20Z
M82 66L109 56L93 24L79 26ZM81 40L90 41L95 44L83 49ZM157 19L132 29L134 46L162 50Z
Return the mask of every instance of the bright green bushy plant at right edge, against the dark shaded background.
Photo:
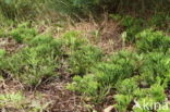
M141 52L163 51L170 48L170 37L162 32L145 29L136 35L136 47Z

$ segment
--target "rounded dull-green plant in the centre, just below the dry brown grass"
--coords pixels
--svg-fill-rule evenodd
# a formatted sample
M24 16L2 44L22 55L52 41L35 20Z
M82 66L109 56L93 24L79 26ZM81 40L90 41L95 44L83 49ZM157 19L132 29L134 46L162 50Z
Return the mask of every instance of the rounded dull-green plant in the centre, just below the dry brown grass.
M73 74L85 75L101 60L102 52L93 46L82 46L69 58Z

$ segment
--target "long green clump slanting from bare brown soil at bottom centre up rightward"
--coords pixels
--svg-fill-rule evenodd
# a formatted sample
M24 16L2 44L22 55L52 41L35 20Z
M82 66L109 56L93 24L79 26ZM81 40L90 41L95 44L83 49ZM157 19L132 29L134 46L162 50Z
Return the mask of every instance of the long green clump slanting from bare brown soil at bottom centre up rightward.
M94 101L101 101L108 91L113 89L119 82L135 75L136 61L137 58L135 53L121 51L113 54L110 61L100 62L95 65L92 70L93 74L83 77L75 76L75 78L73 78L74 82L69 85L69 88L92 97ZM85 86L85 82L90 86ZM93 85L94 87L92 87ZM84 89L82 89L82 86Z

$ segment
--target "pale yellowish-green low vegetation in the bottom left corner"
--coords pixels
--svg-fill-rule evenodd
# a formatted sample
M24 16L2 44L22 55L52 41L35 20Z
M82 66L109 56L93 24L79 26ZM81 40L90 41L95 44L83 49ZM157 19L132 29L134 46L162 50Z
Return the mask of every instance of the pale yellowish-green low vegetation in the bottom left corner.
M42 112L49 104L40 104L40 102L36 100L26 99L26 97L21 91L0 95L0 108L3 111L13 110L26 112Z

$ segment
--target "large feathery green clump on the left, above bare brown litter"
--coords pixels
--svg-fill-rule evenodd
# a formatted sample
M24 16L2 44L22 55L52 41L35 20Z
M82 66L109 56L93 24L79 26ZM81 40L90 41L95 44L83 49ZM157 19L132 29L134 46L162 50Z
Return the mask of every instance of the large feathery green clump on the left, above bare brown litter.
M3 59L2 70L9 71L24 84L38 85L48 77L57 76L54 70L62 55L61 43L48 36L35 37L27 47Z

